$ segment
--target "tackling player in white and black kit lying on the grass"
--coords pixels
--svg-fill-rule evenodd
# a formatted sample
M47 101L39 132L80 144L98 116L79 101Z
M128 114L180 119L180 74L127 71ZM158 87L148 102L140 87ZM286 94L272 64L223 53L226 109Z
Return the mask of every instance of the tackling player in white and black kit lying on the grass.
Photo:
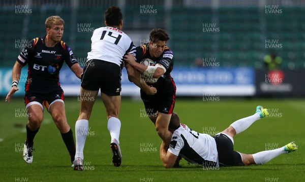
M233 150L233 137L265 116L268 116L267 110L259 105L256 107L254 115L235 121L214 137L198 133L191 130L187 125L180 124L176 130L172 131L169 147L166 147L162 141L160 147L161 161L166 168L173 167L178 156L190 163L203 166L248 166L264 164L281 154L296 151L297 145L294 141L279 149L262 151L256 154L242 154ZM171 119L179 121L176 114L173 114Z

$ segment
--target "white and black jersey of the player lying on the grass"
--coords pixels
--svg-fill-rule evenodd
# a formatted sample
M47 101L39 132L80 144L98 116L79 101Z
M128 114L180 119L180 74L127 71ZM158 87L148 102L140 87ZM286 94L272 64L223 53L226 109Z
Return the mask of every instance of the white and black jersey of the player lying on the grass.
M193 164L210 166L215 163L219 166L215 139L208 134L193 131L185 124L180 124L174 131L168 151Z

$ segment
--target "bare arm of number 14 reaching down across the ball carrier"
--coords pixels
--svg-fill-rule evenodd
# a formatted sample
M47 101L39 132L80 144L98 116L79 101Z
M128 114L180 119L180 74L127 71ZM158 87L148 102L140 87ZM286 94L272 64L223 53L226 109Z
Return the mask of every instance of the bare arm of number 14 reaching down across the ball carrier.
M140 72L133 68L130 64L125 64L128 73L128 80L133 82L141 90L143 90L147 95L154 95L157 93L155 87L149 87L144 81L141 81Z

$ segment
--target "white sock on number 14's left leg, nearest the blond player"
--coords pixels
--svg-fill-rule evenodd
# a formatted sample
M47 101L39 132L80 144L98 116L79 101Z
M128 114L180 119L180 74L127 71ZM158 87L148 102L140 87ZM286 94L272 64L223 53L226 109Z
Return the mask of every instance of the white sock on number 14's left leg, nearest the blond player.
M76 153L75 159L80 157L84 159L84 146L86 137L89 130L89 122L88 120L77 120L75 123L75 139L76 139Z

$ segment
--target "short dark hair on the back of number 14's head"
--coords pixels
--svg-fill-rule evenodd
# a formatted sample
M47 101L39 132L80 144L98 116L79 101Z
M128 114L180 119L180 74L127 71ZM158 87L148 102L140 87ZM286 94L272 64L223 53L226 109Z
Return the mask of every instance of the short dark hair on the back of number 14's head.
M118 7L109 7L105 12L105 20L107 25L119 25L123 20L123 15Z

